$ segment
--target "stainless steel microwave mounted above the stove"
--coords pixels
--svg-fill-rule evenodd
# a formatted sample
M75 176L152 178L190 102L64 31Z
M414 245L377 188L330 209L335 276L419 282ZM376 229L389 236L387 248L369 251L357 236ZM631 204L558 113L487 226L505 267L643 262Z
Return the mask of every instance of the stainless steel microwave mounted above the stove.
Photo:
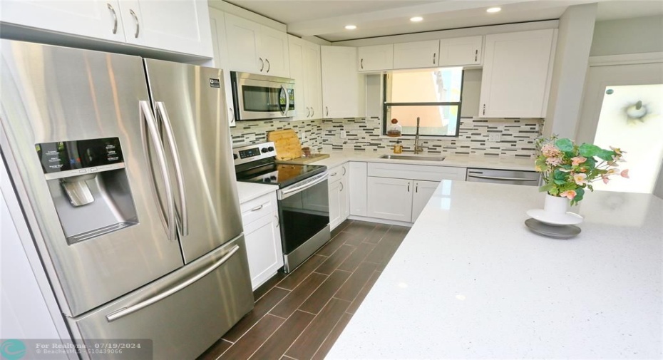
M292 118L294 79L230 71L236 120Z

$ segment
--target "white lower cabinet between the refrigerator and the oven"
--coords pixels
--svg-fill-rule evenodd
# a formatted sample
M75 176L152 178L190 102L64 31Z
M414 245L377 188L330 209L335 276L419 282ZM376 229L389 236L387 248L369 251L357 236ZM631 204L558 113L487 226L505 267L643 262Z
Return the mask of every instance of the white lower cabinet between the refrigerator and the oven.
M255 290L283 267L276 192L243 202L240 208L251 286Z

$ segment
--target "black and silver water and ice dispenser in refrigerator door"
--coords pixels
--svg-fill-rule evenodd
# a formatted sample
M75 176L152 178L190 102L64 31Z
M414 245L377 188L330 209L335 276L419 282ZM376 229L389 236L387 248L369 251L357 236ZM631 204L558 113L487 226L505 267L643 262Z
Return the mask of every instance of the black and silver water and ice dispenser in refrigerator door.
M138 224L119 138L35 147L70 245Z

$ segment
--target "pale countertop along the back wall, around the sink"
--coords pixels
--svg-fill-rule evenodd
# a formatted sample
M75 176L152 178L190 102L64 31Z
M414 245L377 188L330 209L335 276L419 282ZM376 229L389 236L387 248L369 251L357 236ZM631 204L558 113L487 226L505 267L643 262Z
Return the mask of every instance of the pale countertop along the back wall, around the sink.
M436 155L424 154L414 155L422 158L431 156L444 156L443 161L427 161L427 160L394 160L394 159L381 159L382 155L408 155L413 156L412 153L394 154L392 152L366 152L366 151L344 151L329 153L329 158L322 159L312 163L314 165L326 165L328 168L341 165L348 161L366 161L371 163L393 163L393 164L416 164L416 165L433 165L433 166L451 166L456 168L485 168L485 169L499 169L499 170L526 170L534 171L533 158L500 158L497 156L477 156L477 155Z

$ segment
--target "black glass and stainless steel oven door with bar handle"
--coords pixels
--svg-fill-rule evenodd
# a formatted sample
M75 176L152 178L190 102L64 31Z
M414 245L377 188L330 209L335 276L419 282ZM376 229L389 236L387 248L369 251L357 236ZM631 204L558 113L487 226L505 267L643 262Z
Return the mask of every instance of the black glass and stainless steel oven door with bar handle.
M329 241L329 183L327 172L277 192L285 272Z

